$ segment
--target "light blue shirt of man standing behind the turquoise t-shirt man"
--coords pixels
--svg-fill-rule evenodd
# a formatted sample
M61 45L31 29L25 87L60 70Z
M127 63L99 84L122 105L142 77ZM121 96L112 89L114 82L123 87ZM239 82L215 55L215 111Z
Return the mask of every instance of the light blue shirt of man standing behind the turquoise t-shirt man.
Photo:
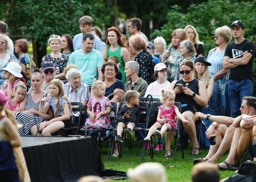
M91 32L92 33L92 32ZM92 33L93 34L93 33ZM93 45L93 49L96 49L100 52L102 52L103 49L103 45L102 45L102 41L100 40L99 37L94 36L94 45ZM76 34L73 38L73 47L74 47L74 51L77 51L79 49L83 49L83 44L82 44L82 40L83 40L83 34Z

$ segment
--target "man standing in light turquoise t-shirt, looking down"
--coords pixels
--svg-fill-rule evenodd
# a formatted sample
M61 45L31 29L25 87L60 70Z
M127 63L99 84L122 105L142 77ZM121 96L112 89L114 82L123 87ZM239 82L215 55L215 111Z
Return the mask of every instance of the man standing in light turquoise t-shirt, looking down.
M104 63L103 56L100 51L93 49L94 36L91 33L85 33L83 36L83 49L74 51L69 57L69 62L75 64L81 71L83 78L82 82L86 83L89 89L92 87L94 78L102 80L103 74L101 72Z

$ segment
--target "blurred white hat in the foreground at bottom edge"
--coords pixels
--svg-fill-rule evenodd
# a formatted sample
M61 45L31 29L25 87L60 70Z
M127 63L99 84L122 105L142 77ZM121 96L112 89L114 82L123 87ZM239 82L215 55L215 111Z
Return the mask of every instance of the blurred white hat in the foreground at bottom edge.
M130 168L127 176L136 182L167 182L164 166L157 162L146 162Z

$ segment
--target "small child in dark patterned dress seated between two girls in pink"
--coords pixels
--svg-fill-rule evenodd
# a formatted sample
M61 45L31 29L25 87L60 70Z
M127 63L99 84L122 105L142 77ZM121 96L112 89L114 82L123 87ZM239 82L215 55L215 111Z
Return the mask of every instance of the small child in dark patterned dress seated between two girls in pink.
M128 137L132 136L132 131L137 126L140 118L140 105L138 105L140 94L135 90L128 90L125 93L125 100L127 104L121 106L118 113L118 126L116 143L122 143L121 135L124 132ZM126 129L127 128L127 129Z

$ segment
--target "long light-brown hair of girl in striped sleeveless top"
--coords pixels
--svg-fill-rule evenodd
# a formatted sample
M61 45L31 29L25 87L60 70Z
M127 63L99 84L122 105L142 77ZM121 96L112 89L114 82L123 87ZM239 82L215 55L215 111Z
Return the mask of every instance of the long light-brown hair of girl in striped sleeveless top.
M68 105L69 105L69 111L72 112L72 107L71 107L71 104L70 104L70 102L69 102L69 99L68 99L67 96L64 94L64 90L63 90L63 86L62 86L61 80L59 80L59 79L54 79L54 80L52 80L52 81L50 82L49 85L51 85L51 84L54 84L54 85L56 85L56 87L59 88L59 95L56 97L57 102L56 102L56 111L55 111L54 116L55 116L55 117L59 117L59 114L60 114L60 105L61 105L61 104L60 104L60 99L61 99L61 97L62 97L63 99L65 99L65 100L67 100Z

